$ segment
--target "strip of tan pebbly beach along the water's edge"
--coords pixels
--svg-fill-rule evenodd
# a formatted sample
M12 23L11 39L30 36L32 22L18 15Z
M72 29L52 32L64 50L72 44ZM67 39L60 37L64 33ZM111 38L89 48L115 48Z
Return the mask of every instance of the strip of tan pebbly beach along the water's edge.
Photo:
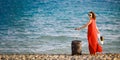
M120 54L83 54L79 56L69 54L0 54L0 60L120 60Z

